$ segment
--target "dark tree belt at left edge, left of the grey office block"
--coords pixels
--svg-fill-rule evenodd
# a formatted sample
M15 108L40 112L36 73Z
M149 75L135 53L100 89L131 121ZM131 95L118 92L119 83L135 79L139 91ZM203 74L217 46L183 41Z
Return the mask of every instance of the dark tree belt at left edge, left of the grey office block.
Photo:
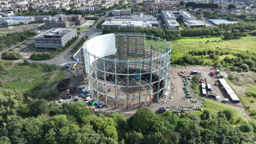
M34 37L37 33L34 31L24 31L16 33L8 33L0 37L0 50L6 47L10 47L13 44L17 44L27 39L27 37Z

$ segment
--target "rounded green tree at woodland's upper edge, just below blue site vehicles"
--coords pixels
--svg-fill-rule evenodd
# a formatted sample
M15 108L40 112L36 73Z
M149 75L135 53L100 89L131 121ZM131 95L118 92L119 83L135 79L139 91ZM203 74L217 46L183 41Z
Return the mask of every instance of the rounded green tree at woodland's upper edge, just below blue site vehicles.
M85 103L79 101L69 105L69 115L73 115L78 121L81 121L83 117L90 115L90 109Z

